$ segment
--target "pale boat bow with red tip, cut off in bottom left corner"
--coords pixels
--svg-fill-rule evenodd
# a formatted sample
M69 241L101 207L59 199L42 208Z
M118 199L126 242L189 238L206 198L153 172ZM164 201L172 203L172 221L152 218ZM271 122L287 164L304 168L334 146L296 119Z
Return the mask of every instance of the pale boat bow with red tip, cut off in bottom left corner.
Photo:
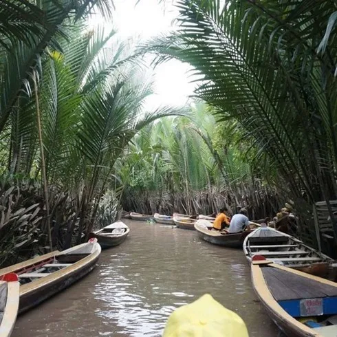
M0 277L0 337L12 334L19 310L20 283L17 274Z

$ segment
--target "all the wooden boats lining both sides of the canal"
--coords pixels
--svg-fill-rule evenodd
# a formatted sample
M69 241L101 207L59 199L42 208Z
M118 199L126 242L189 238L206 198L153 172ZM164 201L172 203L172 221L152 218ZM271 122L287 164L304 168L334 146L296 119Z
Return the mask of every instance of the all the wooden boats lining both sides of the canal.
M252 285L269 316L287 336L337 336L336 264L303 241L256 224L238 233L213 230L213 217L124 214L136 220L196 230L199 237L228 248L243 248ZM197 219L194 219L197 218ZM89 235L89 241L0 270L0 337L10 336L17 314L69 287L94 269L102 248L118 246L130 229L118 221Z

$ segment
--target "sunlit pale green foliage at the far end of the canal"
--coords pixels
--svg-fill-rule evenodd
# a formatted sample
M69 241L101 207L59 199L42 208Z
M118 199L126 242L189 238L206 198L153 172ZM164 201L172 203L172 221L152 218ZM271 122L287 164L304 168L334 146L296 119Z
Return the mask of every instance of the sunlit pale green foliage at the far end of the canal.
M276 188L249 162L248 144L238 144L235 129L217 123L202 102L189 118L165 118L143 129L117 169L124 209L210 214L248 206L254 218L275 213L284 200L275 199Z

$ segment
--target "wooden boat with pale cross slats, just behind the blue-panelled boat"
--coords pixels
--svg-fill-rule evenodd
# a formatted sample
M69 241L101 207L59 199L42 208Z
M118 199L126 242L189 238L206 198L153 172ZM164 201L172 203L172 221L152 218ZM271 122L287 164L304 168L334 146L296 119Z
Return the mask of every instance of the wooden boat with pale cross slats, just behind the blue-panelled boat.
M328 275L329 264L334 262L296 237L270 227L261 227L251 232L243 241L243 252L249 262L254 255L261 254L285 267L321 277Z

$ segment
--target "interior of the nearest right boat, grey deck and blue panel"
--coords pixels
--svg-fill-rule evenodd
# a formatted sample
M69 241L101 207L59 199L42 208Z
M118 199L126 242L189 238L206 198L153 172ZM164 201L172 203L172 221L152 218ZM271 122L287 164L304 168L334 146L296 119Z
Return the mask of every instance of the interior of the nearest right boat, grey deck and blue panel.
M337 336L337 287L268 265L265 283L281 307L320 336Z

